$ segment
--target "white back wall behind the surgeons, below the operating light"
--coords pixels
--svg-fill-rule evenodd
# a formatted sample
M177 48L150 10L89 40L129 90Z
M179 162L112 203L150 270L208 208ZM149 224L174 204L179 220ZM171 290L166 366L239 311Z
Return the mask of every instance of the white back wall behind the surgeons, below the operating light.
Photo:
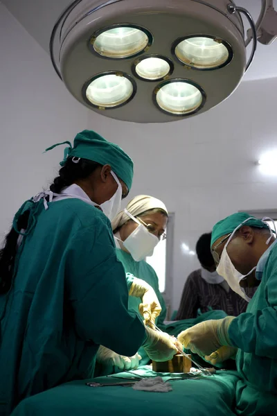
M277 177L262 176L254 164L264 150L277 148L276 91L277 78L244 82L215 109L177 123L91 122L134 159L131 196L150 193L175 212L174 308L198 266L182 242L194 250L199 235L224 216L277 208Z

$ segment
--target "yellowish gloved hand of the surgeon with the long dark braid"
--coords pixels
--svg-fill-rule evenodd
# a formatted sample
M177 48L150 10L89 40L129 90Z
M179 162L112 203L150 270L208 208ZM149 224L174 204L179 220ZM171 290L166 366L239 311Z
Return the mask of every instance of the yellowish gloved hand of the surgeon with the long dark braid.
M174 339L166 332L153 331L145 327L147 338L143 347L153 361L168 361L177 354Z

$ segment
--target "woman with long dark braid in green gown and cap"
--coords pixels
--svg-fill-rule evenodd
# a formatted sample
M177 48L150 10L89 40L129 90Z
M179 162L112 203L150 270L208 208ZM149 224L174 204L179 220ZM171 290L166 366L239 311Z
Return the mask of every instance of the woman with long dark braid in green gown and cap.
M177 352L128 311L110 220L131 189L132 159L89 130L62 144L59 175L24 202L0 252L1 416L91 374L99 345L124 356L143 345L158 361Z

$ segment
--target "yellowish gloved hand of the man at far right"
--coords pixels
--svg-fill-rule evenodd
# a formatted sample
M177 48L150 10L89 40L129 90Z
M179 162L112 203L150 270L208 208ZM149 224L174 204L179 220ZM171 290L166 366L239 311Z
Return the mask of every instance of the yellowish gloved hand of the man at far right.
M179 333L178 340L191 352L199 356L208 356L222 345L231 345L228 329L234 318L227 316L224 319L200 322Z

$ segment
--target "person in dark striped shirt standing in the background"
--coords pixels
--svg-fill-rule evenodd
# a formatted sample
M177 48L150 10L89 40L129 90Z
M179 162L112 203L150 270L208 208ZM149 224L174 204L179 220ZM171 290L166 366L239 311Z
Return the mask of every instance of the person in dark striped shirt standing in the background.
M232 291L229 284L216 271L211 254L211 232L203 234L196 244L196 253L201 268L190 273L181 297L176 320L196 318L211 309L220 309L227 315L238 316L247 309L247 301ZM253 297L256 288L246 288Z

